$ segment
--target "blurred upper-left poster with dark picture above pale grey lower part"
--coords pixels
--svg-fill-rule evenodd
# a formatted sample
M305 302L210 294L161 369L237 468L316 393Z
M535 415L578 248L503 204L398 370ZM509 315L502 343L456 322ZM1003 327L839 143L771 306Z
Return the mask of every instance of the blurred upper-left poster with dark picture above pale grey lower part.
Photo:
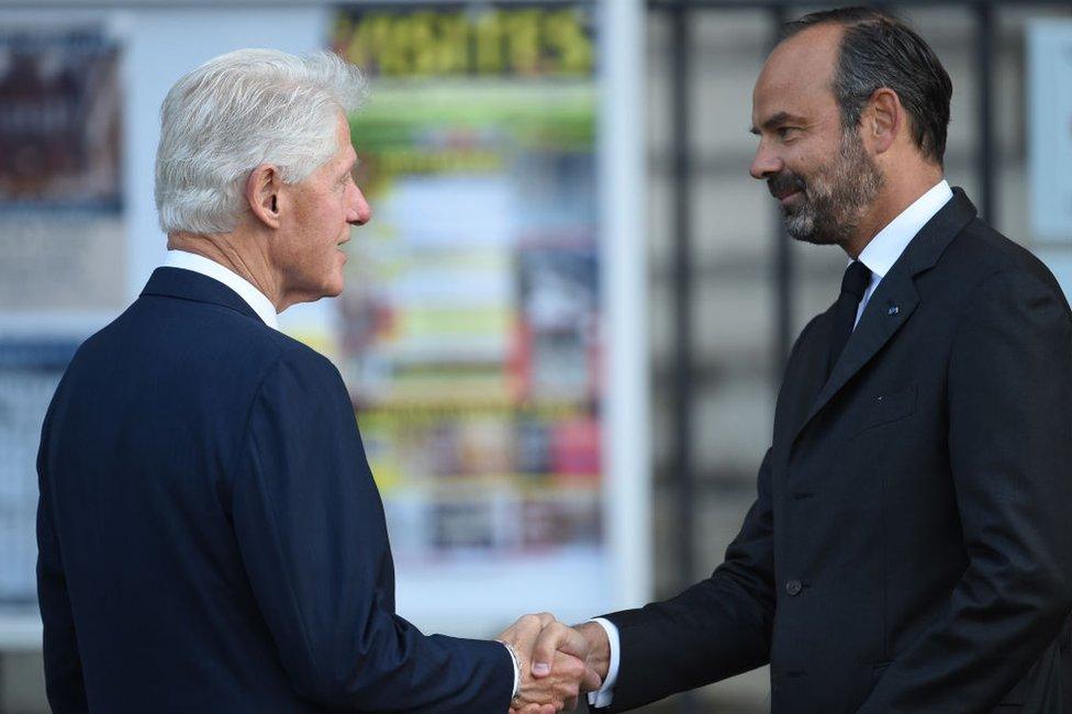
M101 24L0 26L0 305L125 299L120 46Z

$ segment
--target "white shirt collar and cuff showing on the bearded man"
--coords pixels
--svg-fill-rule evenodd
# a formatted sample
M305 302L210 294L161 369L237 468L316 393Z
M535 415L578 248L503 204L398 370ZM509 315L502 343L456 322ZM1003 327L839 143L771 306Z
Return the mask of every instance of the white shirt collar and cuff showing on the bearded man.
M916 199L912 205L886 224L884 228L879 231L863 248L857 259L871 270L871 285L864 291L863 298L860 300L860 306L857 309L857 323L860 322L860 316L863 315L863 309L867 308L868 301L874 294L875 289L882 282L885 275L890 272L893 264L897 261L897 258L908 247L912 239L916 237L919 230L930 219L935 217L935 214L951 198L953 198L953 192L949 188L949 183L946 180L941 180L937 186ZM851 264L852 261L850 260L849 263ZM606 637L611 643L611 665L607 669L606 679L603 680L603 687L599 691L589 693L588 703L592 706L610 706L614 699L614 684L617 683L618 679L618 663L622 660L618 628L614 623L603 617L596 617L592 622L599 623L606 631Z

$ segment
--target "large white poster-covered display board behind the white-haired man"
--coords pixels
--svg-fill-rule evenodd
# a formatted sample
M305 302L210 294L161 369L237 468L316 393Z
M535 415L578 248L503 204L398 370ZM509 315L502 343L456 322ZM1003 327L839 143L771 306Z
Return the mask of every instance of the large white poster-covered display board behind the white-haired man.
M13 47L36 53L45 78L83 62L81 89L59 96L96 118L78 114L89 163L40 180L36 197L4 164L0 220L67 221L38 230L49 241L103 236L81 253L53 243L58 259L30 256L45 245L32 236L0 244L4 260L44 270L0 300L0 600L33 600L32 457L55 380L164 258L152 177L167 89L239 47L331 46L372 86L350 123L373 219L348 244L344 295L280 323L346 378L384 495L399 612L487 636L524 612L579 620L641 603L643 18L639 0L0 12L0 74L14 75ZM20 116L4 120L9 138L29 131ZM14 616L25 622L0 618L0 647L40 643L26 636L36 614Z

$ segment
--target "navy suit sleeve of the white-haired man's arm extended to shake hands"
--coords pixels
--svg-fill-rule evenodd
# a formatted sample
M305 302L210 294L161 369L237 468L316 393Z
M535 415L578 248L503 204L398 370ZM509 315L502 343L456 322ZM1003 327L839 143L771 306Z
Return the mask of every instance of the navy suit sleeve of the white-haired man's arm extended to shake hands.
M284 354L253 404L234 528L299 694L332 709L505 712L499 643L425 636L394 613L383 510L335 368Z

